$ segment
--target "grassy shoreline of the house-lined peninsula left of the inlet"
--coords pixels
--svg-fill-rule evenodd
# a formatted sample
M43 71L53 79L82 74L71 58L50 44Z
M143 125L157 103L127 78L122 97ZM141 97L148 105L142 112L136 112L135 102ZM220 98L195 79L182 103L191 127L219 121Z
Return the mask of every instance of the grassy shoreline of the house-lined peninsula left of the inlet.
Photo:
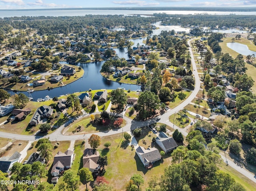
M53 83L53 82L50 82L48 80L50 80L51 76L50 75L47 75L45 76L45 79L46 79L46 83L42 86L35 86L35 87L28 87L26 86L27 83L8 83L8 84L1 84L2 87L4 88L8 88L8 89L15 89L15 90L18 90L18 91L27 91L28 88L30 89L34 89L35 91L37 90L45 90L45 89L48 89L48 87L52 87L52 88L56 88L56 87L61 87L63 85L67 85L69 83L72 83L76 80L78 80L80 77L82 77L82 75L84 74L84 70L81 69L81 70L78 70L78 66L74 66L72 65L72 67L74 67L76 69L76 73L71 76L70 78L68 77L64 77L64 79L62 80L62 82L59 82L59 83ZM59 75L60 73L60 70L54 72L53 74L54 75ZM38 77L37 77L38 76ZM33 80L38 80L40 79L42 76L41 75L31 75L30 77L36 77L35 79ZM28 83L32 83L32 81L28 82Z

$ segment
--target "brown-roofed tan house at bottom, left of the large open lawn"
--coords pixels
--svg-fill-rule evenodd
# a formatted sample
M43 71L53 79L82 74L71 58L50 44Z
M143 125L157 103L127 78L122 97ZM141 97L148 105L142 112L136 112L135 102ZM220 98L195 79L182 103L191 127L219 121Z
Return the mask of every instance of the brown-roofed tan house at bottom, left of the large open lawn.
M83 167L88 168L93 175L98 175L100 166L98 165L98 159L100 153L96 149L87 148L84 150L83 155Z

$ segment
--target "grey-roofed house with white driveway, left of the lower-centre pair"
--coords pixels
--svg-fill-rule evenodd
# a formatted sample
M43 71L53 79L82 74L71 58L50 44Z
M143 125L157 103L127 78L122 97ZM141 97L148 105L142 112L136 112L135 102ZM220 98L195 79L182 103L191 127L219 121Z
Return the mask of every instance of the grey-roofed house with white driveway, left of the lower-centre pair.
M152 167L152 164L154 162L162 158L158 149L154 147L144 149L144 147L138 146L138 148L136 148L136 153L140 160L142 161L144 167L149 168Z

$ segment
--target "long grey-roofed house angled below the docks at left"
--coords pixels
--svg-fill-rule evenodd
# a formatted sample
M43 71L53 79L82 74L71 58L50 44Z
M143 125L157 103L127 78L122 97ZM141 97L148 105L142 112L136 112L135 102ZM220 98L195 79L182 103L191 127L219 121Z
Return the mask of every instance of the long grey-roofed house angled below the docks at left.
M46 106L46 105L40 106L39 108L37 108L29 124L31 126L37 125L41 118L49 117L52 114L53 114L53 109L50 106Z

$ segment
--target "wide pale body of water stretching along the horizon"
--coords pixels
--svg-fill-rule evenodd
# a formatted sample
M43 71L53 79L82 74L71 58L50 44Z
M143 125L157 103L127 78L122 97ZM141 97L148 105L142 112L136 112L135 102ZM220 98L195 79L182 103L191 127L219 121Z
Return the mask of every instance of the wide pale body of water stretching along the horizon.
M256 15L256 12L222 12L222 11L157 11L157 10L1 10L0 18L13 16L84 16L84 15L152 15L166 14L210 14L210 15Z

